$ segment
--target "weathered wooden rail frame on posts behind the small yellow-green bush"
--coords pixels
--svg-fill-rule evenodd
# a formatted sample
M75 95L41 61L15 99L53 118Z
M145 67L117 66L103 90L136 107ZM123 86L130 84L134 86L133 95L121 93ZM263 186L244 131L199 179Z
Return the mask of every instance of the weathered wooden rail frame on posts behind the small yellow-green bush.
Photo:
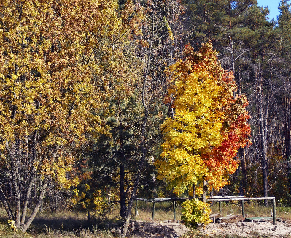
M155 205L157 202L164 202L164 201L172 201L173 202L173 215L174 215L174 222L176 222L176 201L185 201L190 200L193 198L136 198L136 205L135 205L135 216L137 216L137 204L138 201L146 201L152 202L152 221L155 219ZM219 214L222 215L222 201L241 201L241 212L242 216L245 217L244 213L244 201L250 200L273 200L273 224L276 225L276 199L275 197L263 197L263 198L245 198L244 196L213 196L206 199L206 201L218 201L219 202Z

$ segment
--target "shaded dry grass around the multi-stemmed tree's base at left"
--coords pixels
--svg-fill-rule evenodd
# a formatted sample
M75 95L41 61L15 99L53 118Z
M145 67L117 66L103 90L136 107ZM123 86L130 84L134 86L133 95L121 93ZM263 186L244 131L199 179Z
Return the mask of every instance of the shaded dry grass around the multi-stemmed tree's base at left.
M54 213L39 212L26 233L13 231L7 225L7 217L0 209L1 238L113 238L109 231L115 225L116 219L98 220L95 217L88 222L84 212L60 210Z

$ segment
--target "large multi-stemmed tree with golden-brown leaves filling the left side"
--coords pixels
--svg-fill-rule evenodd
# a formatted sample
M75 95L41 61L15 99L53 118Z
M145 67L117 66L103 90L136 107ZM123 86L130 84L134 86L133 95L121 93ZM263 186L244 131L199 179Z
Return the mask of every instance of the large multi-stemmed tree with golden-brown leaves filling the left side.
M78 184L78 151L104 131L104 62L126 31L116 11L110 0L1 1L0 199L14 228L28 229L48 190Z

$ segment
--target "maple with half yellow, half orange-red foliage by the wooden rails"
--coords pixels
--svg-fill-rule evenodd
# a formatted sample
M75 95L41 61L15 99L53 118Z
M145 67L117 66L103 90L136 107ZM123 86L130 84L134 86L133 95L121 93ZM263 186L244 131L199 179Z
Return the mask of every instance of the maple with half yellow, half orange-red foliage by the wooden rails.
M158 179L166 179L178 195L188 190L205 202L207 189L228 184L238 168L238 149L249 142L247 100L244 95L233 97L233 73L223 70L209 43L198 52L187 46L185 59L170 70L173 84L168 95L174 116L161 126Z

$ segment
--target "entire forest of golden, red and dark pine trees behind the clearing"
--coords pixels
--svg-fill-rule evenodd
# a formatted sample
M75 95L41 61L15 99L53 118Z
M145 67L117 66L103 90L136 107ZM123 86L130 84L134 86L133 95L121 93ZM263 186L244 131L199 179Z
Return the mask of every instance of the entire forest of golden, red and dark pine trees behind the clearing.
M118 205L125 237L136 197L290 205L287 0L277 19L256 0L0 2L0 201L15 228L44 208ZM170 155L181 146L187 161Z

